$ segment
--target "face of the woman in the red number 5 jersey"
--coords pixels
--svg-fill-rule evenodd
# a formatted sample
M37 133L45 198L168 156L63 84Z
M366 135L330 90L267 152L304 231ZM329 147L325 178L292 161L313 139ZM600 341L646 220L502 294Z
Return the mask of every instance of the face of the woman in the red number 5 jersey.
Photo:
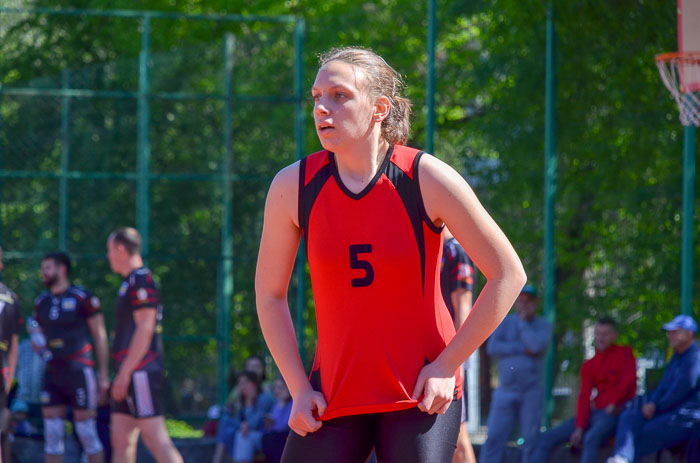
M318 71L311 95L316 133L325 149L349 147L370 135L375 105L367 83L361 69L343 61L330 61Z

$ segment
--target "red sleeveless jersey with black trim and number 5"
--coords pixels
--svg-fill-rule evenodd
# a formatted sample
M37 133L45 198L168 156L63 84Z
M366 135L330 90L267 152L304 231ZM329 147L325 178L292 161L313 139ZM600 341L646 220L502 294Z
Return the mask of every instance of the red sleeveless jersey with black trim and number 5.
M357 194L333 153L301 161L299 225L318 326L311 382L328 403L324 420L414 407L418 373L455 334L440 293L442 229L418 184L422 154L390 148Z

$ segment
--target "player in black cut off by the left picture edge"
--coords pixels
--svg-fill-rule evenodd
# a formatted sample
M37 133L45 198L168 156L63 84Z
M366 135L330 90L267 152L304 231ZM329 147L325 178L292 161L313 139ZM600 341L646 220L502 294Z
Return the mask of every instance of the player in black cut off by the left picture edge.
M0 247L0 272L4 265L2 262L2 248ZM0 433L2 433L2 452L9 455L9 413L7 409L7 394L10 392L12 380L17 368L17 342L22 330L22 315L19 311L17 295L7 286L0 283Z

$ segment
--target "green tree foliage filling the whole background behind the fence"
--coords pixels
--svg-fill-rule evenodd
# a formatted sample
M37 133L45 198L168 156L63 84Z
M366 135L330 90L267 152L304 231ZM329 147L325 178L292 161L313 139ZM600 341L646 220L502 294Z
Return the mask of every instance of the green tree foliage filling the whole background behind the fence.
M25 1L23 6L132 8L116 0ZM149 0L144 9L189 14L297 15L306 21L305 87L316 56L331 47L375 49L408 82L413 138L425 140L426 5L310 0ZM546 2L439 2L436 155L472 184L541 287ZM653 64L676 47L668 2L555 2L557 27L556 209L557 337L582 322L614 315L623 340L640 353L665 349L660 323L679 311L682 128ZM135 92L138 23L131 19L49 15L0 16L2 84ZM154 20L154 92L222 90L222 40L235 36L234 93L289 98L293 26ZM69 72L67 71L69 70ZM67 80L66 80L67 79ZM2 168L40 171L3 179L2 243L22 253L5 280L25 301L38 292L41 253L58 245L60 97L2 96ZM104 239L133 224L137 111L129 98L73 98L71 170L104 178L71 180L68 249L80 256L76 279L106 300ZM307 117L311 106L306 104ZM221 183L178 175L214 174L222 166L221 100L151 100L151 260L166 306L166 333L215 332L220 258ZM254 309L253 277L262 207L274 173L294 159L292 106L239 98L234 104L234 363L264 351ZM308 119L307 119L308 121ZM306 124L306 151L319 149ZM697 197L697 194L696 194ZM696 205L698 201L696 200ZM697 209L696 209L697 210ZM696 221L696 234L700 226ZM700 240L695 241L696 243ZM697 259L696 244L696 259ZM19 256L19 254L18 254ZM294 280L294 279L293 279ZM293 281L294 283L294 281ZM695 293L700 291L695 281ZM307 283L305 354L313 356L315 319ZM294 284L290 292L294 297ZM29 305L25 303L25 307ZM294 304L292 304L294 305ZM26 311L26 308L25 308ZM213 385L215 343L169 343L173 385L201 377ZM578 348L558 351L577 364ZM197 358L197 361L192 359ZM201 360L200 360L201 359Z

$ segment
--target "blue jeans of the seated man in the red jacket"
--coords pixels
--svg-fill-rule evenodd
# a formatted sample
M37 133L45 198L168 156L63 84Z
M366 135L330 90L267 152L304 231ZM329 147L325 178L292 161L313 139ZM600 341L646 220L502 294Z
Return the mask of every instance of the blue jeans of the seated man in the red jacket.
M608 415L605 410L591 410L588 428L581 442L581 463L595 463L600 446L615 433L617 415ZM523 463L545 463L554 447L569 441L576 429L576 420L571 418L556 428L539 434L529 452L525 452Z

